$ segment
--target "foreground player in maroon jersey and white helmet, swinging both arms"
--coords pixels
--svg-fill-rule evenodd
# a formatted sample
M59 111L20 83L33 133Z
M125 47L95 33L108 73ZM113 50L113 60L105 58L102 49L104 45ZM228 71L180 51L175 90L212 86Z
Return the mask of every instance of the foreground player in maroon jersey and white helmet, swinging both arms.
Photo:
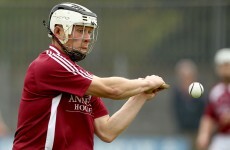
M77 65L91 51L97 30L96 14L81 5L54 6L47 28L52 44L27 70L13 149L92 150L94 133L113 141L163 79L100 78ZM129 99L110 117L100 97Z

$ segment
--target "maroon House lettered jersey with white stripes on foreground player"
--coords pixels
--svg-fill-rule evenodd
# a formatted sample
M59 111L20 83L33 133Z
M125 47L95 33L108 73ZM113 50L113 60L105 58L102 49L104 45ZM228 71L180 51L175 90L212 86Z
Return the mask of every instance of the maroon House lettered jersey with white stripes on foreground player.
M29 66L13 149L92 150L102 100L85 95L92 74L53 45Z

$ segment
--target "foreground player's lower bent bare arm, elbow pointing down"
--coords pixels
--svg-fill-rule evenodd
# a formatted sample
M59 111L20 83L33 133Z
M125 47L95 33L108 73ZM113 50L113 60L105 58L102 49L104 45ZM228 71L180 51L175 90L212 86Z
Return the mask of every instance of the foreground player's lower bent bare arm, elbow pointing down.
M129 100L111 117L109 115L95 119L95 134L105 142L112 142L134 120L147 99L153 94L139 94Z

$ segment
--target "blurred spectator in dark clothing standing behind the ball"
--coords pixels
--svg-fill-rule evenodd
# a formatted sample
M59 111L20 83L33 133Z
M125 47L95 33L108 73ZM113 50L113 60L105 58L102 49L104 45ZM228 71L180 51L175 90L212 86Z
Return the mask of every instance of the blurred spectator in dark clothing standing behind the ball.
M177 123L177 130L191 139L195 147L195 135L204 110L204 96L192 98L188 87L198 80L196 64L190 59L180 60L175 67L176 83L173 86L172 106Z

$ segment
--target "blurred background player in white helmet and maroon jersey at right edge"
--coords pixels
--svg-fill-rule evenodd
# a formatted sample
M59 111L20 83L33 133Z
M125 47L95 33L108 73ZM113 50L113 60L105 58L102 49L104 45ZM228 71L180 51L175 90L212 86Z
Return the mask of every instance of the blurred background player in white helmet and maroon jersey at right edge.
M219 77L209 93L200 122L197 147L200 150L230 149L230 48L217 51L215 71Z

